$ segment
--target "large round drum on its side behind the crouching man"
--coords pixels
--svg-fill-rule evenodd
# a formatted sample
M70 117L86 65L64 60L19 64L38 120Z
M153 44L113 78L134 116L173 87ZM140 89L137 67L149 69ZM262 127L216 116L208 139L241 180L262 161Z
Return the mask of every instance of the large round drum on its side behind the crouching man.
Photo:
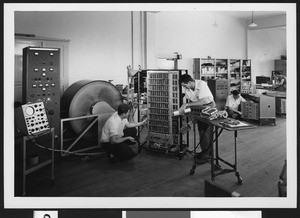
M94 138L100 136L106 120L117 111L121 103L122 95L111 83L102 80L80 80L69 86L62 95L61 116L76 118L98 115L98 135L95 127L84 135L85 138ZM80 134L92 119L72 120L70 125L76 134Z

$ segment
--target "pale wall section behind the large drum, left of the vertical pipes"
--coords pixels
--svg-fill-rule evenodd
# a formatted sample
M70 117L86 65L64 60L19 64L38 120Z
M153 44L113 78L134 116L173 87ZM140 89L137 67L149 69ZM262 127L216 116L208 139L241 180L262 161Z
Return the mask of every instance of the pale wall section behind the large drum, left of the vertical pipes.
M134 56L140 56L138 13L134 14ZM70 39L69 83L81 79L127 84L132 64L131 12L16 12L15 32Z

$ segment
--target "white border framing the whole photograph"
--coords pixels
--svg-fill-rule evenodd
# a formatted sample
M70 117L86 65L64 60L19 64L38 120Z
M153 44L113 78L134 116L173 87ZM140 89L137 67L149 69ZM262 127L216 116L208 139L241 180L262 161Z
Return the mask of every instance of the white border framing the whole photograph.
M57 7L59 5L59 7ZM195 197L14 197L14 12L15 11L286 11L287 18L287 196L286 198ZM296 4L4 4L4 208L295 208L297 207ZM253 184L254 185L254 184Z

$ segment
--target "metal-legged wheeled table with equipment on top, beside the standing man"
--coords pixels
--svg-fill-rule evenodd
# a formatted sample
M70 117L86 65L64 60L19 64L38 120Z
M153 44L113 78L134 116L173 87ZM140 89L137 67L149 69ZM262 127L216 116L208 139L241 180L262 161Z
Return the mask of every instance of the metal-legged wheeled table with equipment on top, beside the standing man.
M195 173L195 169L197 166L197 162L196 162L196 149L199 146L199 144L196 143L196 131L195 131L195 125L198 121L202 121L202 122L206 122L209 125L213 125L214 126L214 134L215 134L215 139L213 140L213 144L211 146L211 180L214 181L216 176L219 175L223 175L226 173L231 173L234 172L235 176L238 179L238 184L242 184L243 180L239 174L239 172L237 171L237 143L236 143L236 138L237 138L237 132L239 130L247 130L247 129L253 129L256 128L255 125L241 121L242 123L244 123L244 126L237 126L237 127L229 127L229 126L224 126L222 123L228 121L228 120L234 120L234 119L216 119L216 120L209 120L207 118L203 118L201 116L189 116L190 119L192 119L193 121L193 129L194 129L194 161L193 161L193 166L192 169L190 170L190 175L193 175ZM219 142L218 142L218 138L220 136L220 134L222 133L223 130L228 130L228 131L233 131L234 132L234 163L229 163L226 160L222 159L219 156ZM215 143L215 148L214 148L214 143ZM214 157L215 155L215 157ZM220 166L220 162L223 162L224 164L226 164L227 166L230 167L230 169L222 169L222 167ZM221 170L218 173L215 173L215 168L218 168L219 170Z

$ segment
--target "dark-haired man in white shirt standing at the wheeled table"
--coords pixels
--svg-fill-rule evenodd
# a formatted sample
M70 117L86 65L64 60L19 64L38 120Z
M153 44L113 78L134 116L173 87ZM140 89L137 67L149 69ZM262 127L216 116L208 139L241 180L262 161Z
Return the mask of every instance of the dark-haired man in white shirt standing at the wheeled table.
M207 85L203 80L194 80L188 74L183 74L180 77L180 83L185 88L185 97L189 100L184 103L179 109L179 113L183 114L186 107L216 107L214 97ZM213 126L198 121L198 131L200 137L200 147L202 151L197 154L197 163L203 164L209 161L211 146L213 143Z

